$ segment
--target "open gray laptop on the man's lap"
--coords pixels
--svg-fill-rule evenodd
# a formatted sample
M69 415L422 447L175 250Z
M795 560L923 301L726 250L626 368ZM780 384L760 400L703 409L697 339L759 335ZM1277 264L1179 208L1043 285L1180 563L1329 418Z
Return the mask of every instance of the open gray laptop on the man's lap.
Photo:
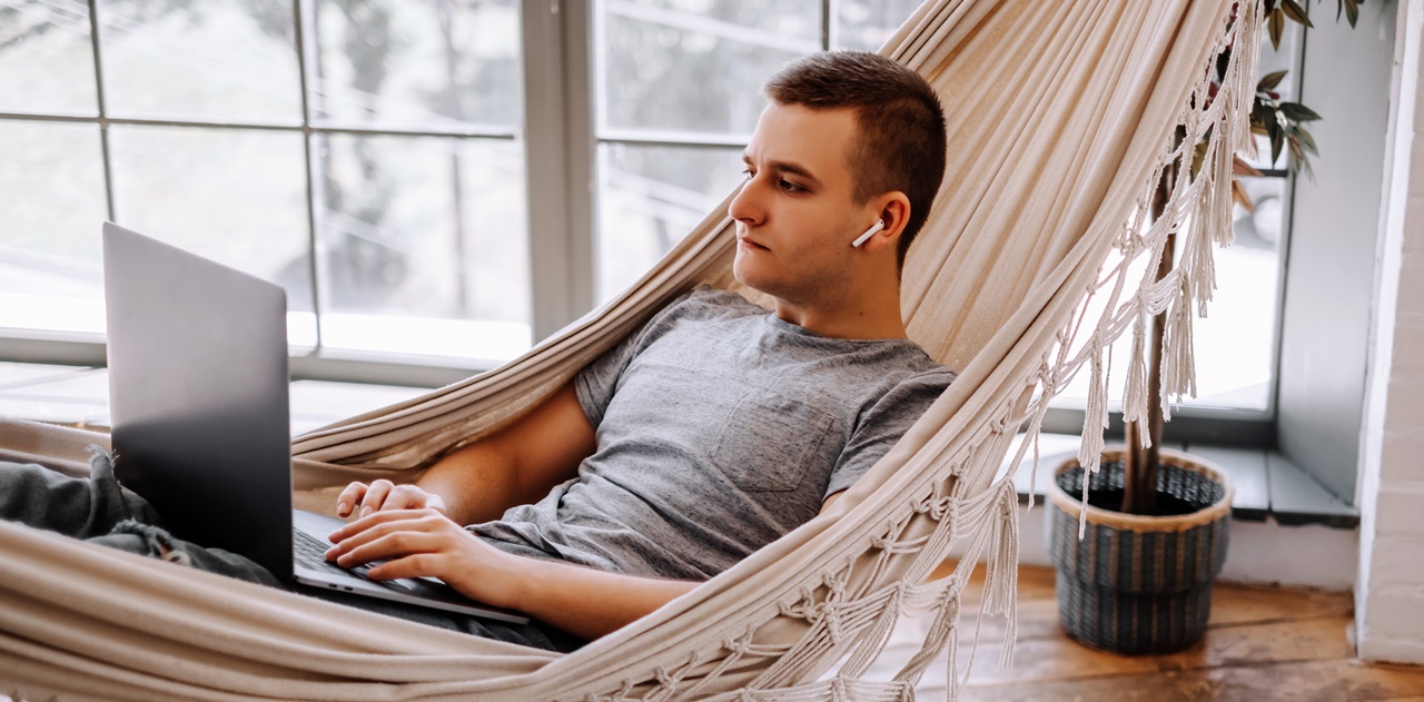
M375 581L322 554L342 520L292 508L286 293L104 224L114 474L179 538L283 582L514 624L434 578Z

